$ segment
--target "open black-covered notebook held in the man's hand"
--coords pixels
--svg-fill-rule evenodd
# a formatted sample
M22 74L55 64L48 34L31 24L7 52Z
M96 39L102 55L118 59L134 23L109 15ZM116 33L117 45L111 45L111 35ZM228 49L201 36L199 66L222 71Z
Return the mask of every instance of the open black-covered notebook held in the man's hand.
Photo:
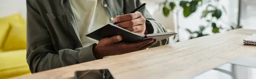
M166 32L166 33L157 33L157 34L137 34L131 31L128 31L124 28L121 28L114 24L107 24L103 26L102 28L97 29L96 31L93 31L90 34L87 34L87 37L93 38L95 40L101 40L102 38L106 37L113 37L116 35L122 36L121 42L127 42L127 43L134 43L134 42L142 42L144 40L163 40L168 37L171 37L177 33L175 32Z

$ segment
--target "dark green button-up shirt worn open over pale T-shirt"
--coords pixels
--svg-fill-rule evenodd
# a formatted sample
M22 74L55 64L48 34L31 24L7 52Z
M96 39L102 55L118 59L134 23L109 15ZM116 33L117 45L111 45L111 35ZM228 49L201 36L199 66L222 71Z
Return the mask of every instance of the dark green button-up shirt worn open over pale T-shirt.
M92 44L83 47L78 25L69 0L27 0L27 62L32 73L95 60ZM127 14L142 3L140 0L102 0L108 17ZM146 10L149 34L167 32ZM113 21L111 21L113 23ZM152 47L166 45L168 39Z

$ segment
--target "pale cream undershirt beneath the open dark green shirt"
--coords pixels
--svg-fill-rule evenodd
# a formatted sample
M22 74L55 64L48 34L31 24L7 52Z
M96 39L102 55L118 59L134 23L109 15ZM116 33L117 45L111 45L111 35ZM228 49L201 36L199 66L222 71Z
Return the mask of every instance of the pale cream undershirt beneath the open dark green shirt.
M97 43L97 40L85 35L110 23L108 15L101 5L101 0L70 0L70 3L79 25L78 30L82 45L88 46Z

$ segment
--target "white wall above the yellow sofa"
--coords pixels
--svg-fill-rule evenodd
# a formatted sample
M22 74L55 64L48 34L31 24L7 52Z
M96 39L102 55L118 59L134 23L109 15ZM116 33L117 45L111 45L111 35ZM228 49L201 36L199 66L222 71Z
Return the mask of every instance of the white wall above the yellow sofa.
M15 13L26 19L26 0L0 0L0 17Z

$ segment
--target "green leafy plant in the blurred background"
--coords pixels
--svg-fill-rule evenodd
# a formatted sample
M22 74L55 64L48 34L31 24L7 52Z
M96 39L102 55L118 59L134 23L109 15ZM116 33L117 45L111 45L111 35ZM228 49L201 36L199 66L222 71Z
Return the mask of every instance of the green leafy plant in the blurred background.
M224 29L221 25L216 24L216 21L221 18L221 15L226 12L225 8L222 6L218 8L219 0L178 0L178 5L174 1L165 0L163 3L160 3L160 6L163 6L163 14L168 17L169 12L173 11L175 8L180 7L183 9L183 16L189 17L191 14L195 13L198 7L206 6L205 10L202 11L201 19L207 21L207 25L199 26L198 31L191 31L186 29L190 33L189 39L207 36L209 34L203 34L203 31L206 28L212 28L212 33L220 33L220 30L232 30L236 28L242 28L242 26L228 24L230 28ZM224 12L223 12L224 11ZM193 36L196 35L196 36Z

